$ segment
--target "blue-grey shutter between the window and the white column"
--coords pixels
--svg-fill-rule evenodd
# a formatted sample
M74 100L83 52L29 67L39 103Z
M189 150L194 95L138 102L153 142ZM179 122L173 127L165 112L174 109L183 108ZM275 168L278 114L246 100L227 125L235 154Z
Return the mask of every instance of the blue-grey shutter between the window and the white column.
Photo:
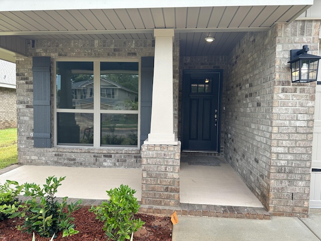
M141 57L141 94L140 94L140 145L150 133L152 79L154 57Z

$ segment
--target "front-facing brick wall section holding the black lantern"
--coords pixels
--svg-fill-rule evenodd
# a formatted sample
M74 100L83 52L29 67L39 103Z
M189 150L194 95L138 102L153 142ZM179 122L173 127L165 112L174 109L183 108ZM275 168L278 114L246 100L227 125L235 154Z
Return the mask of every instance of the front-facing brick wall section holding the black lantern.
M315 82L291 83L289 52L307 44L317 55L321 21L294 21L275 27L270 203L274 215L308 213Z

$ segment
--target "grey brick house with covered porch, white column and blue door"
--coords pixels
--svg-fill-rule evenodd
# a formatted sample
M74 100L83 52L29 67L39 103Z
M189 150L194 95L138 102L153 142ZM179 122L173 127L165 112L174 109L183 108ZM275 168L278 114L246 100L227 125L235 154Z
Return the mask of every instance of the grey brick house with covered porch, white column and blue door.
M272 214L308 215L319 82L292 83L288 61L318 54L321 0L16 2L0 58L17 64L19 163L141 168L141 204L174 209L181 151L205 152ZM132 107L108 103L120 86Z

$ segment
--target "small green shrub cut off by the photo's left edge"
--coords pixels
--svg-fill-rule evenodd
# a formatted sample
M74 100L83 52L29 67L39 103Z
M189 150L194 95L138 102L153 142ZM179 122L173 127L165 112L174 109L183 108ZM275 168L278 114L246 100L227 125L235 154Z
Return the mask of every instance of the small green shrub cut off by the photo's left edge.
M16 187L13 188L12 185ZM23 185L19 185L16 181L7 180L5 184L0 185L0 206L2 205L14 205L18 204L19 200L17 196L20 194L23 189ZM10 215L0 212L0 220L8 218Z

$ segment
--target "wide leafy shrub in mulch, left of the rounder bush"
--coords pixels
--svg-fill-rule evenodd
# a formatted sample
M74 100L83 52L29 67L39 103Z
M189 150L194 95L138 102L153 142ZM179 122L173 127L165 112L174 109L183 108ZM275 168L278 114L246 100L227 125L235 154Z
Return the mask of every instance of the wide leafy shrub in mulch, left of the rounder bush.
M55 197L57 188L65 177L57 179L54 176L46 179L43 188L35 183L25 183L24 196L31 197L24 204L0 206L0 212L11 214L9 217L25 217L24 225L18 229L31 233L38 232L41 236L49 237L63 230L63 237L78 233L74 229L71 213L79 208L82 200L67 205L67 197L58 202Z

